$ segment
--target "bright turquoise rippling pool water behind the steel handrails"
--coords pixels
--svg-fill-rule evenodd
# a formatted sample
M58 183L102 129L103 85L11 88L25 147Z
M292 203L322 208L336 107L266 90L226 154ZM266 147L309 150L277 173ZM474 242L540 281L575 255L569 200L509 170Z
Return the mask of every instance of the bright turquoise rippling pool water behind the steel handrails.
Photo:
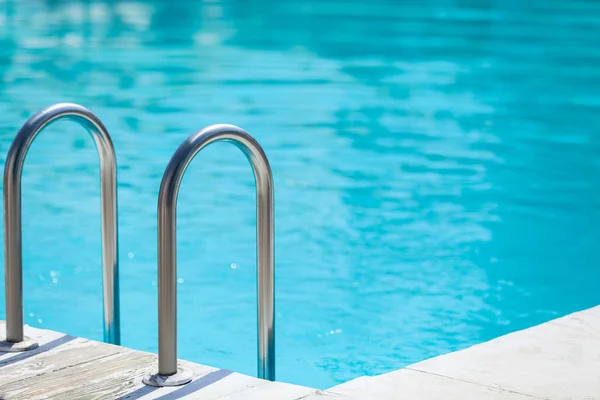
M600 303L600 3L394 3L0 1L1 157L60 101L113 135L124 345L157 349L159 182L211 123L273 168L282 381L325 388ZM77 127L32 147L30 325L102 337L97 176ZM211 146L178 231L179 355L248 374L253 190Z

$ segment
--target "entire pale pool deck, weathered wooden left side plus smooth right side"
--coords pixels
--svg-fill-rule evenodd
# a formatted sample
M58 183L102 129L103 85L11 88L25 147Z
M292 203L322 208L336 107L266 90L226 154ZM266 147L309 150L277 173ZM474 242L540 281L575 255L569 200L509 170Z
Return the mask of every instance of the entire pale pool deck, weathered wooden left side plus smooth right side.
M4 323L0 322L0 332ZM0 353L0 399L600 400L600 306L328 390L181 361L194 381L144 386L156 355L26 328L40 347Z

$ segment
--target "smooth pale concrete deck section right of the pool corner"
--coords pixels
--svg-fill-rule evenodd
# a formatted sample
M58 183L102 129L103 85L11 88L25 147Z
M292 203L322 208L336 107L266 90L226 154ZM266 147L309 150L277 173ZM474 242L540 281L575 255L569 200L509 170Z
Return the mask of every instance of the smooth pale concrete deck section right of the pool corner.
M600 400L600 306L329 391L356 399Z

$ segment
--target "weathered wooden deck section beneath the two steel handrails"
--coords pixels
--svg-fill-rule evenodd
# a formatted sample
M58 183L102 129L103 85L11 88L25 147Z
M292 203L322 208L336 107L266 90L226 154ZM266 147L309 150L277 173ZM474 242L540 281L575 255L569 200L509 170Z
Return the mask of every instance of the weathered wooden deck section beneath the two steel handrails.
M4 331L0 322L0 332ZM40 343L25 353L0 353L0 399L282 399L317 390L219 370L186 361L194 381L174 388L147 387L142 377L156 355L27 327Z

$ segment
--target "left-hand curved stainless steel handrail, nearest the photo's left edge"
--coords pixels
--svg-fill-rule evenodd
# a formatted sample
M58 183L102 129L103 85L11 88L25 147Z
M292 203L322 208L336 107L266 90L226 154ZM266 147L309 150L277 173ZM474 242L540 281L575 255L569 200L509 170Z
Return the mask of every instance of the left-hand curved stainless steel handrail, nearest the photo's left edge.
M77 122L90 133L100 156L102 198L102 278L104 341L120 344L119 263L117 247L117 163L114 147L102 122L88 109L55 104L25 122L15 137L4 166L4 268L6 338L0 351L24 351L37 343L23 335L23 265L21 236L21 174L25 157L40 131L58 120Z

